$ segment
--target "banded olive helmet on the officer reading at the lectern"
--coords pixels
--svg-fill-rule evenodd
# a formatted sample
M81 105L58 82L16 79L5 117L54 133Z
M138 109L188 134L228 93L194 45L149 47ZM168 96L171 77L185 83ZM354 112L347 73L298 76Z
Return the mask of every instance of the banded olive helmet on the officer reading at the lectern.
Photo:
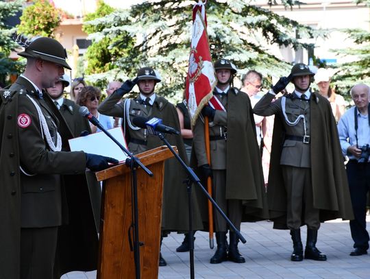
M27 44L25 44L24 47L25 51L18 53L18 56L46 60L60 64L64 66L64 68L71 70L71 67L66 62L66 49L64 49L58 40L47 37L38 37L27 41Z

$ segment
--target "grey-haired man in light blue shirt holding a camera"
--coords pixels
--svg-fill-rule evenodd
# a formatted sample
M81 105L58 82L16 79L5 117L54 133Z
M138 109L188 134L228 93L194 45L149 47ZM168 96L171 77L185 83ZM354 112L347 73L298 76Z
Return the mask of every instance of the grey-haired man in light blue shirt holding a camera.
M369 233L366 230L366 200L370 190L370 88L356 84L351 88L355 106L343 114L338 133L343 155L348 156L347 178L354 220L349 221L354 250L351 256L367 254Z

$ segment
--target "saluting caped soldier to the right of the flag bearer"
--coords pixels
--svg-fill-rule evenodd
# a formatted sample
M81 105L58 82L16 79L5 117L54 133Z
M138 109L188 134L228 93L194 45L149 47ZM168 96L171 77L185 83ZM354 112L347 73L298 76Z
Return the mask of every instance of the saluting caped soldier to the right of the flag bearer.
M353 218L336 122L329 101L310 91L313 75L295 64L254 106L255 114L275 114L267 195L274 228L291 230L293 261L326 260L316 247L320 222ZM294 92L273 101L289 82Z

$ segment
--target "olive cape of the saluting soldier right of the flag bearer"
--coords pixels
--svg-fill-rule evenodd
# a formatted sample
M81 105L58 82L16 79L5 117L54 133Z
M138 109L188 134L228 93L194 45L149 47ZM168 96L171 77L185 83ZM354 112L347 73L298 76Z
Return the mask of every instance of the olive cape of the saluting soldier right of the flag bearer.
M262 104L269 98L268 94L258 103ZM286 190L280 166L285 120L280 99L274 102L274 106L280 106L280 110L275 114L267 195L270 216L275 221L274 228L287 229ZM320 221L336 218L353 219L341 145L330 103L317 93L311 93L309 101L310 169L314 208L320 210ZM264 115L262 111L256 111L258 104L254 108L256 114Z

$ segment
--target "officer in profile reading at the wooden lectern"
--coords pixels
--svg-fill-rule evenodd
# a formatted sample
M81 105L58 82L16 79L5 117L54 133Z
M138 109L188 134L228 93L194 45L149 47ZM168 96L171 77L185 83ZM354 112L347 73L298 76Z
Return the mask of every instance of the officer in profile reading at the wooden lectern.
M0 91L0 278L60 278L71 270L96 269L91 206L67 207L80 197L66 191L60 174L97 171L118 161L61 151L69 128L42 88L54 86L64 68L71 69L66 51L52 38L14 38L25 47L18 55L27 64L16 82Z

